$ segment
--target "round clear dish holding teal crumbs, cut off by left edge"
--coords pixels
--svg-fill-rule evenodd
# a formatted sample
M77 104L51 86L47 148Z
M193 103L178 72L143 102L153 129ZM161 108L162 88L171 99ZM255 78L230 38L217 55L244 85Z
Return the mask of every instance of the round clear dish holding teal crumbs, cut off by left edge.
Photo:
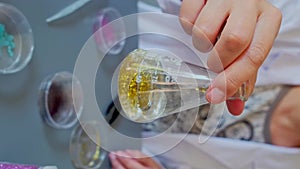
M26 17L14 6L0 3L0 74L22 70L31 60L33 48Z

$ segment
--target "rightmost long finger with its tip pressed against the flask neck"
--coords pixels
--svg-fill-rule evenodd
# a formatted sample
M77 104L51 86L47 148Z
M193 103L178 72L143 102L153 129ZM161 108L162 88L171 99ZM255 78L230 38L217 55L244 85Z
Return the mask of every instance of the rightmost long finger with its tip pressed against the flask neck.
M257 74L273 45L281 23L281 13L277 8L269 5L265 8L268 9L264 9L265 12L262 12L258 18L250 46L234 63L220 73L210 86L207 93L209 101L213 103L224 101L232 96L243 82Z

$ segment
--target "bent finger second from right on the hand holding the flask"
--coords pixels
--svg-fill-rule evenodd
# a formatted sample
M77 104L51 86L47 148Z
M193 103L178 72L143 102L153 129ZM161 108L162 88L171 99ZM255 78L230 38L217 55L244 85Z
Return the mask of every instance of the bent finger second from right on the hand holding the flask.
M221 72L233 63L252 40L259 11L254 5L240 8L238 3L241 1L236 1L232 7L222 34L215 44L215 50L208 57L208 66L214 72Z

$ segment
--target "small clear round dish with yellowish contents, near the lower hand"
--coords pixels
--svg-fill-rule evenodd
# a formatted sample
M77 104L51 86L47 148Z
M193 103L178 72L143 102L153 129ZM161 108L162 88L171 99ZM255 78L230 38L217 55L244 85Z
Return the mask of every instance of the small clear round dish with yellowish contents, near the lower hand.
M95 142L86 134L85 130L94 135ZM78 125L71 134L69 144L74 168L100 168L107 154L100 146L100 134L93 122L85 123L83 126Z

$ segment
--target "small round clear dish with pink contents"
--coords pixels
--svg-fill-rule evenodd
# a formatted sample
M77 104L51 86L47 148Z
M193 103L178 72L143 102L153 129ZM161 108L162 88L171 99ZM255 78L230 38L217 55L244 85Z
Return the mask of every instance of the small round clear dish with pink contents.
M93 36L100 51L117 55L123 50L126 30L123 20L118 18L121 18L121 14L110 7L102 9L96 16Z

